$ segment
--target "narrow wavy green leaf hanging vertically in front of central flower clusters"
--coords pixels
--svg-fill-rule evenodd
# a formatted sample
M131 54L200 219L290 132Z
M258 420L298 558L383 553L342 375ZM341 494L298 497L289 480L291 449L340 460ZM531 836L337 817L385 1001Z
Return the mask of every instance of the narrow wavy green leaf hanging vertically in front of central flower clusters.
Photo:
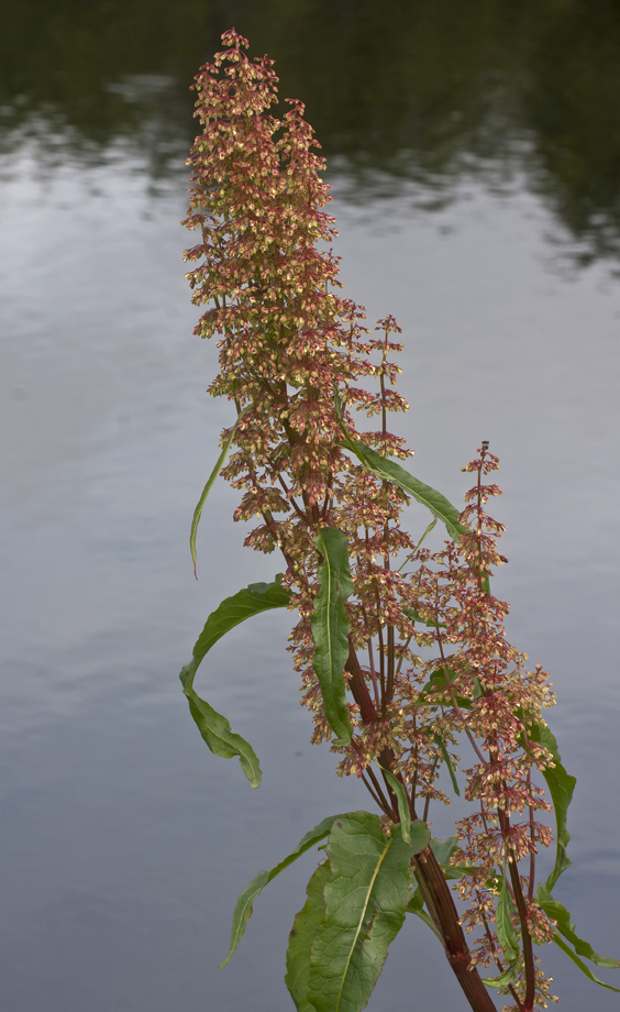
M333 527L323 527L313 543L323 558L312 615L313 668L330 727L336 737L348 741L353 727L346 707L343 674L348 658L348 618L344 602L353 591L353 582L348 571L346 536Z

